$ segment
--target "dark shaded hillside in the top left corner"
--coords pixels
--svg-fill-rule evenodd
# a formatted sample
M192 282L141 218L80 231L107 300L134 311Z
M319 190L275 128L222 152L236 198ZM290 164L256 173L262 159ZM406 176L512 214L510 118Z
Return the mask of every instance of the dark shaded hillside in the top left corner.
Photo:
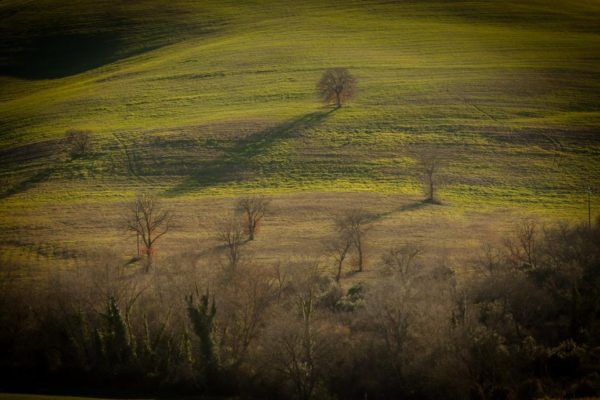
M40 1L0 5L0 74L59 78L214 31L186 2Z

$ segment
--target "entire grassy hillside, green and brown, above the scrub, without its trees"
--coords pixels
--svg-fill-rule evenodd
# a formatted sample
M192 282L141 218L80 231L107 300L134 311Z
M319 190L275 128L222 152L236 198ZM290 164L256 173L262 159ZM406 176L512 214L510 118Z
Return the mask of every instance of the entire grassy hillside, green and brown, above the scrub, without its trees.
M597 1L111 3L0 4L2 257L129 255L139 191L180 216L165 254L210 247L235 196L275 196L268 260L319 254L357 205L380 216L374 249L460 260L523 216L585 220L588 186L598 214ZM314 88L336 66L359 84L333 110ZM71 128L92 154L61 150ZM412 207L428 148L444 205Z

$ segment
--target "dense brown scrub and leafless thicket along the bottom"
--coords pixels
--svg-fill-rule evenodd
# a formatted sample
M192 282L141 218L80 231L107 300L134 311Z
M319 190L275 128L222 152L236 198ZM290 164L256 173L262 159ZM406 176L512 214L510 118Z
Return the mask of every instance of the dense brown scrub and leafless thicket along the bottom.
M330 257L144 272L109 253L3 265L3 388L250 398L600 395L600 220L525 221L460 277L390 249L376 279ZM14 267L14 266L12 266ZM360 274L358 274L360 276ZM342 280L343 283L343 280Z

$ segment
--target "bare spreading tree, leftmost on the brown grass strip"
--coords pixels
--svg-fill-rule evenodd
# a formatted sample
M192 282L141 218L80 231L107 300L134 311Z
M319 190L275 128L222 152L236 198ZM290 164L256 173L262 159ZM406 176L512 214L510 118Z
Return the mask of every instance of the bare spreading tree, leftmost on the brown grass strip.
M137 235L138 256L139 240L142 241L146 256L145 271L149 272L153 263L154 244L171 229L173 214L163 210L156 197L143 193L129 206L126 221L127 229Z

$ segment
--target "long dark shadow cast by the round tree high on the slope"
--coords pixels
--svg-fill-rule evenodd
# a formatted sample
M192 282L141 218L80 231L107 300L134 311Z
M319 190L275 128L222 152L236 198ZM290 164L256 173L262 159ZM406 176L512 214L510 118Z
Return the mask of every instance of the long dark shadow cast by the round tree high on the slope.
M299 137L303 130L323 123L334 111L335 109L304 114L251 134L225 149L220 157L201 166L165 194L177 196L200 188L243 180L259 167L259 157L268 155L278 143Z

